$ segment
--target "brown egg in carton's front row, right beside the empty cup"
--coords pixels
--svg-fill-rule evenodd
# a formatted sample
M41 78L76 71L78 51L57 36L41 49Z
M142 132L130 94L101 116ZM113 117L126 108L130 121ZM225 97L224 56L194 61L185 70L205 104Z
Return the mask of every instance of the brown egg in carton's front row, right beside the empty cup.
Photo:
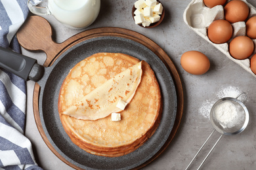
M226 20L215 20L207 29L208 38L216 44L228 42L232 34L233 27Z

